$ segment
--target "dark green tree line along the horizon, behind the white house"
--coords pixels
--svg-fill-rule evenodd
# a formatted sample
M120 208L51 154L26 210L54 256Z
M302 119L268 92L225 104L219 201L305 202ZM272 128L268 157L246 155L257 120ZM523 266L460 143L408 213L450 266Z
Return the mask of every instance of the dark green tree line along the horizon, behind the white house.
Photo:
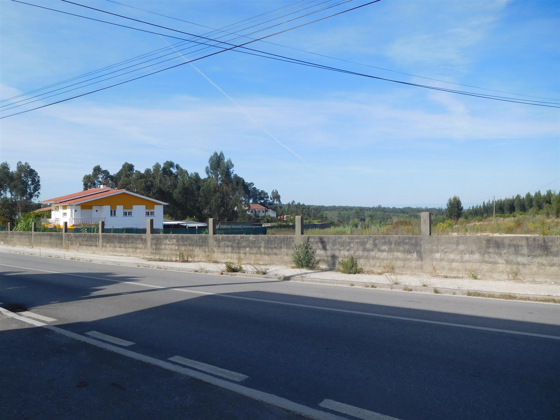
M431 212L435 221L459 218L484 218L493 213L493 202L463 209L459 197L454 196L441 207L363 207L363 206L316 206L304 203L282 203L277 189L270 194L256 188L235 174L231 159L223 152L214 152L208 159L202 178L198 172L190 172L172 161L163 165L156 162L151 168L139 171L134 165L125 162L119 171L111 174L100 165L91 174L83 176L83 188L97 188L107 184L111 188L126 189L147 197L169 203L165 207L167 217L174 220L207 220L209 217L220 221L251 220L245 207L258 203L272 208L278 216L304 216L306 220L330 222L333 225L374 226L388 225L398 220L414 220L421 212ZM17 162L11 170L7 162L0 164L0 219L2 224L15 221L18 215L39 208L34 202L41 189L37 171L25 162ZM61 192L62 194L62 192ZM560 193L547 190L525 196L517 194L511 198L496 200L497 214L514 212L544 213L560 217Z

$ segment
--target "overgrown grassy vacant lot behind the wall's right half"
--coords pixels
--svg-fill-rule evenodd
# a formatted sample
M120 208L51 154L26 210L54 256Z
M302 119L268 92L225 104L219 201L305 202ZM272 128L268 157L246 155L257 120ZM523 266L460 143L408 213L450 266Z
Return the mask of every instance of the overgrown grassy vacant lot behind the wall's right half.
M269 229L268 235L293 235L293 229ZM418 219L397 220L381 225L332 226L326 229L306 229L306 235L420 235ZM483 220L446 220L432 225L432 235L560 235L560 218L540 215L500 215Z

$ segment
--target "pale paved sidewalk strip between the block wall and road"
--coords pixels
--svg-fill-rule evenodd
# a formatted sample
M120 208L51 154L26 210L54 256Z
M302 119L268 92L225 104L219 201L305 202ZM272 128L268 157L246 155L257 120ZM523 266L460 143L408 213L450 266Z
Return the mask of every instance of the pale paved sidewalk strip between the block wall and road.
M150 261L146 258L128 255L91 254L76 251L63 251L52 248L27 248L26 246L1 245L0 251L11 253L25 253L32 255L54 256L66 259L91 260L99 263L115 263L123 265L137 265L151 268L173 268L199 270L208 272L222 272L223 263L212 262L166 262ZM519 293L521 295L560 296L560 284L525 283L505 280L484 280L460 277L413 276L410 274L343 274L332 270L307 270L290 268L286 265L253 265L241 264L246 273L255 274L256 269L266 269L268 276L290 277L305 281L336 281L337 283L377 283L399 284L400 286L424 286L457 290L475 290L480 292Z

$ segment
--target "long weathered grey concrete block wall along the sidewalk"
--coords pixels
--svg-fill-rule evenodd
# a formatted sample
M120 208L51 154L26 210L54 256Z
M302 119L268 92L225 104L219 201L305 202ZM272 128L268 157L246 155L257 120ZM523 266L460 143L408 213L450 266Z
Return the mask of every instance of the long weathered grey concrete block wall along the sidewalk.
M101 241L100 241L101 239ZM560 236L334 236L77 234L0 231L0 244L253 264L291 264L304 240L322 267L353 255L366 271L560 282ZM100 246L101 242L101 246ZM149 244L149 245L148 245Z

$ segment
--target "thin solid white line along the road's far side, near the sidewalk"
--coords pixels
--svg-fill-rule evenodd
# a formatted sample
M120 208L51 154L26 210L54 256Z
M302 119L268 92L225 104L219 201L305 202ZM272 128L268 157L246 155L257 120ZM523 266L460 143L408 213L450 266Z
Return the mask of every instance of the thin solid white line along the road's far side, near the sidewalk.
M185 292L185 293L194 293L194 294L197 294L197 295L221 296L221 297L228 297L228 298L231 298L231 299L249 300L249 301L254 301L254 302L265 302L265 303L268 303L268 304L306 307L306 308L309 308L309 309L320 309L320 310L324 310L324 311L342 312L344 314L367 315L367 316L375 316L376 318L399 319L399 320L403 320L403 321L413 321L413 322L417 322L417 323L456 326L458 328L470 328L470 329L475 329L475 330L492 331L492 332L496 332L496 333L528 335L529 337L542 337L542 338L552 338L554 340L560 340L560 337L558 337L558 335L526 333L526 332L523 332L523 331L504 330L504 329L501 329L501 328L490 328L488 326L455 324L455 323L446 323L444 321L432 321L432 320L429 320L429 319L408 318L408 316L375 314L374 312L351 311L349 309L337 309L337 308L325 307L325 306L293 304L291 302L282 302L282 301L268 300L268 299L258 299L258 298L255 298L255 297L226 295L225 293L202 292L202 291L198 291L198 290L181 289L181 288L167 288L165 286L156 286L155 284L128 282L128 281L124 281L124 280L116 280L116 279L113 279L113 278L94 277L94 276L85 276L83 274L63 273L63 272L59 272L59 271L41 270L39 268L20 267L18 265L8 265L8 264L0 264L0 265L3 265L4 267L21 268L23 270L40 271L40 272L44 272L44 273L63 274L65 276L92 278L92 279L95 279L95 280L102 280L102 281L106 281L106 282L127 283L127 284L133 284L134 286L150 287L150 288L155 288L155 289L166 289L166 290L173 290L173 291Z

